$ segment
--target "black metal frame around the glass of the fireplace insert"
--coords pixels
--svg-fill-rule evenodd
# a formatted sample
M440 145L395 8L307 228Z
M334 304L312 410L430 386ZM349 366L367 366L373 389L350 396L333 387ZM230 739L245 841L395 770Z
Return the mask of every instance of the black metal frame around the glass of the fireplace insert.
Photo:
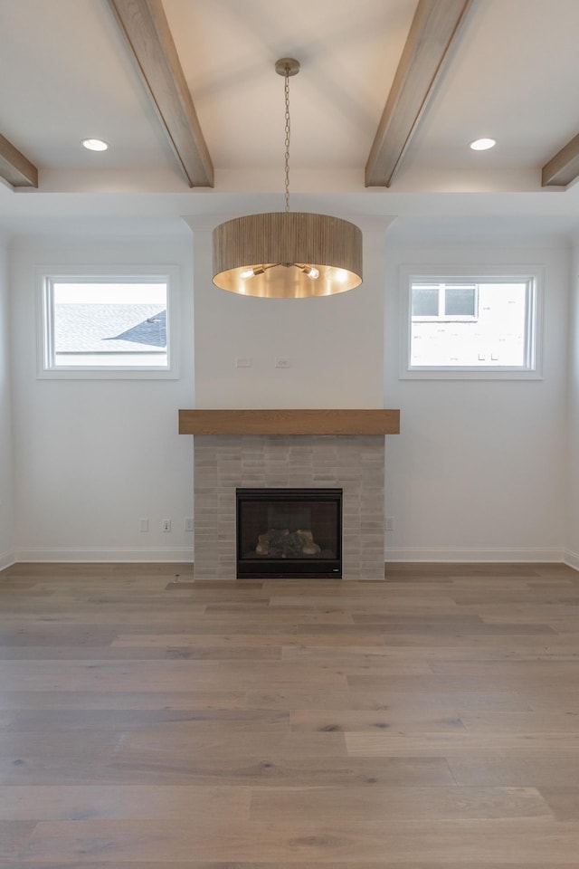
M327 501L337 505L336 545L337 557L312 559L248 559L242 557L242 511L241 502L271 502L271 501L310 501L312 503ZM238 579L260 578L306 578L306 579L341 579L342 578L342 489L300 488L300 489L236 489L235 490L235 556Z

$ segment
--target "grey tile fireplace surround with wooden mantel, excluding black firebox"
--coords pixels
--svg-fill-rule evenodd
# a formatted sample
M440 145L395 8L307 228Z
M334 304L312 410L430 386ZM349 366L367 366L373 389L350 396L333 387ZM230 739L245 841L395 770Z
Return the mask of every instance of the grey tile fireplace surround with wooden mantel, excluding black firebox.
M222 425L217 416L215 425L212 416L210 425L204 424L202 415L212 413L236 412L180 412L181 434L195 435L195 578L236 578L235 490L261 487L341 488L343 576L384 578L384 434L398 431L397 411L238 411L242 422L260 413L261 422ZM271 418L263 416L268 413ZM316 419L309 425L307 415L318 413L326 415L326 423ZM304 414L306 424L296 425ZM345 414L356 414L356 423ZM370 425L360 425L365 414ZM371 434L359 431L368 428ZM308 429L330 433L302 434Z

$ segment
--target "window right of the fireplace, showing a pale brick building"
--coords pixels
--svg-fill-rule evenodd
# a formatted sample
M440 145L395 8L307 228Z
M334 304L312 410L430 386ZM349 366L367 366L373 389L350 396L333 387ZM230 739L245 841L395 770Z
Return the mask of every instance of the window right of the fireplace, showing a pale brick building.
M404 268L400 376L539 379L541 279Z

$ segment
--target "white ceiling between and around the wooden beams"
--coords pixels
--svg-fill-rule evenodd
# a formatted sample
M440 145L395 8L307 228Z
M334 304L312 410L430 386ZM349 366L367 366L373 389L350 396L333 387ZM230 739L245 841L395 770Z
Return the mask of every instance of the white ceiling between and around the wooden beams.
M541 167L579 132L579 0L473 0L392 186L365 188L416 3L164 0L215 167L213 189L191 190L107 0L0 0L0 133L40 176L38 189L0 183L0 229L171 231L182 216L281 210L273 66L294 56L292 207L574 233L579 186L541 188ZM497 147L470 151L483 135ZM81 148L87 137L109 151Z

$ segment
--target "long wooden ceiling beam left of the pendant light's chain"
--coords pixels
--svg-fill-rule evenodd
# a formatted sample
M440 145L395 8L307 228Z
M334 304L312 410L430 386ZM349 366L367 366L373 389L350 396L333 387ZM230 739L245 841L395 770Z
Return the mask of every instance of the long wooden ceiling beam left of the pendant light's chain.
M141 81L191 187L214 186L214 167L161 0L109 0Z

